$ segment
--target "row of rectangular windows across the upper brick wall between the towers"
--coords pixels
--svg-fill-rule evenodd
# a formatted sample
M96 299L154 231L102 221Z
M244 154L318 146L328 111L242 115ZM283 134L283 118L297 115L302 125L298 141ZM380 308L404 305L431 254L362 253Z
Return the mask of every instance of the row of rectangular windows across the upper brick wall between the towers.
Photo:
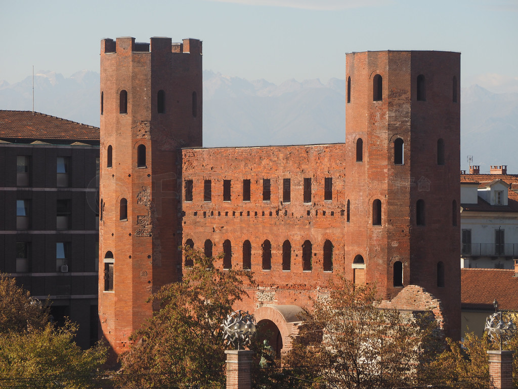
M186 179L184 182L184 201L193 201L193 187L192 179ZM231 180L223 180L223 201L229 202L232 199ZM243 179L242 182L242 201L250 201L250 179ZM203 200L205 202L212 201L212 180L206 179L204 181ZM271 182L270 178L263 178L263 201L271 200ZM325 177L324 179L324 200L333 200L333 178ZM282 202L291 202L291 179L282 179ZM304 178L304 203L311 203L311 178Z

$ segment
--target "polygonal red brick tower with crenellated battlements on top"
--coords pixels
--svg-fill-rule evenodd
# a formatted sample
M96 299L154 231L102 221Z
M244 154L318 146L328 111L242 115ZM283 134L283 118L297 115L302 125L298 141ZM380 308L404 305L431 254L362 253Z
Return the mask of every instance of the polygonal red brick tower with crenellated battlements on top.
M202 146L201 41L103 39L100 107L99 319L119 354L150 294L178 279L178 148Z

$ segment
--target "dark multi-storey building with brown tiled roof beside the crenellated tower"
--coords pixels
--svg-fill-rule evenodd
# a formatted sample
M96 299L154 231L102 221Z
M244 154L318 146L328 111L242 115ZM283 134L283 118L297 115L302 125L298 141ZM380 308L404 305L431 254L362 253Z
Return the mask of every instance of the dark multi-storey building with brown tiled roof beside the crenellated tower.
M0 272L98 338L99 129L0 110Z

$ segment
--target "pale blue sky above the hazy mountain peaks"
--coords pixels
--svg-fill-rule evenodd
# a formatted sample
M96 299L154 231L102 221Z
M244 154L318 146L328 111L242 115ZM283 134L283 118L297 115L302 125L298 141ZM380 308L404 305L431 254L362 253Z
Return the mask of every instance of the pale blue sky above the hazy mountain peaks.
M99 72L100 40L203 40L204 70L275 84L345 76L345 53L446 50L462 87L518 92L518 0L0 0L0 80Z

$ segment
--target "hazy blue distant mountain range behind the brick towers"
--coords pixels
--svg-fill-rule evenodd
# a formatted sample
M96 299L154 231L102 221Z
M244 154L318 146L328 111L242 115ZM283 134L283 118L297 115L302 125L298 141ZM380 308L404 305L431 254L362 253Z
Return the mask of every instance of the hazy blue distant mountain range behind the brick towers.
M280 85L204 71L204 146L252 146L345 141L345 80L319 79ZM99 126L99 74L68 78L38 72L37 112ZM461 164L467 156L488 172L507 164L518 173L518 93L492 93L478 85L461 91ZM32 77L0 80L0 109L32 109Z

